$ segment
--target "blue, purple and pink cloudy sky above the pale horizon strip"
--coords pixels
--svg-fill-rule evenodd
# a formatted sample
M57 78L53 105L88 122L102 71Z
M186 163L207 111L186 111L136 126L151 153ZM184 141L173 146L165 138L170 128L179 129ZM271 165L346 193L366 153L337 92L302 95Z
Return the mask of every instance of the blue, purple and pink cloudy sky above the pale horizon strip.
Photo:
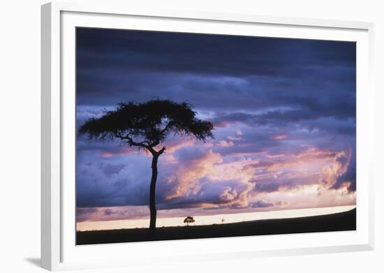
M160 217L354 205L355 64L355 43L79 28L77 126L151 98L213 122L162 144ZM77 137L77 222L148 217L151 159Z

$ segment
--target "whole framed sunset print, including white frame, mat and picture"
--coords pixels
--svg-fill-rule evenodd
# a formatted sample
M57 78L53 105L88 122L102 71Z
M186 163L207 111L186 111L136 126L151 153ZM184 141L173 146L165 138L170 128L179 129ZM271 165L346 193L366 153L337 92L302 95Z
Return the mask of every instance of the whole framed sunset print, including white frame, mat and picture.
M372 38L44 5L43 267L373 249Z

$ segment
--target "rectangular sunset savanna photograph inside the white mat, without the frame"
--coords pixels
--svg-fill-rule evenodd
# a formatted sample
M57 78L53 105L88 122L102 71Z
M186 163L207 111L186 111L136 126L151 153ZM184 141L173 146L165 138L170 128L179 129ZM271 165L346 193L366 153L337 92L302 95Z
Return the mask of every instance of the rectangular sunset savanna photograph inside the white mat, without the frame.
M75 36L77 245L356 230L355 42Z

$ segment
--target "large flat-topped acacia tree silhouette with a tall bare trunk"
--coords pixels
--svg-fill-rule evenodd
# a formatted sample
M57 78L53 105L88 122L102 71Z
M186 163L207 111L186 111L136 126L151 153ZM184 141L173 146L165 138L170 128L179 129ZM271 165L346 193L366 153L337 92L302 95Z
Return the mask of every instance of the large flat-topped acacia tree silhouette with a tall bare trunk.
M193 136L205 142L214 138L213 124L196 117L189 103L176 103L170 100L153 99L145 103L119 103L116 110L105 111L101 117L92 117L78 129L80 135L89 139L121 140L124 144L138 149L146 149L152 154L152 178L149 190L149 229L156 228L156 180L158 157L165 147L156 150L170 133L179 136Z

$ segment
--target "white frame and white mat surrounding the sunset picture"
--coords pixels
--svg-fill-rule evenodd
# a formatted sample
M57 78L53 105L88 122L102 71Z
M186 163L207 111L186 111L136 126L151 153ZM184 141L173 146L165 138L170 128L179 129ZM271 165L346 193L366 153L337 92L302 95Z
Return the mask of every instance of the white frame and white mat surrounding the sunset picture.
M308 233L75 246L75 182L71 177L75 161L73 34L77 26L167 31L189 29L191 32L217 31L219 34L240 34L242 31L242 35L255 35L252 31L256 31L258 36L356 41L357 230L337 234ZM164 262L168 257L188 262L191 256L195 260L209 260L374 249L372 23L175 10L135 10L129 5L47 3L42 6L41 31L41 262L45 269L138 265L145 263L148 258L153 262ZM64 181L67 183L64 184ZM228 245L231 246L230 249L226 247ZM131 253L130 260L126 259L126 253Z

